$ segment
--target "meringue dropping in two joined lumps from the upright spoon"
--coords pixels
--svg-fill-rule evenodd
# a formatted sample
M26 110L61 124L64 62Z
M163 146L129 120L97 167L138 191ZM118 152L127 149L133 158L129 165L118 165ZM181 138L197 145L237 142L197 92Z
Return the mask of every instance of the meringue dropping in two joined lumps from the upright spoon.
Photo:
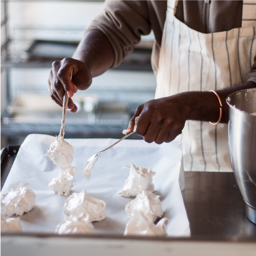
M73 187L76 174L76 167L71 165L73 155L73 147L61 135L56 136L56 140L50 145L50 149L45 154L61 169L59 176L53 178L49 184L49 187L58 195L68 196L71 187Z

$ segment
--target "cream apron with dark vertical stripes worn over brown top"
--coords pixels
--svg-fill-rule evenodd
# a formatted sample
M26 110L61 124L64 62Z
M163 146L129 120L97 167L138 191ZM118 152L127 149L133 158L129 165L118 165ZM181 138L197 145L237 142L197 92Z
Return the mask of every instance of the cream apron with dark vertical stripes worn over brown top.
M241 28L209 34L180 22L177 2L167 1L155 98L245 82L256 52L256 0L244 0ZM184 170L232 171L228 124L186 121L181 140Z

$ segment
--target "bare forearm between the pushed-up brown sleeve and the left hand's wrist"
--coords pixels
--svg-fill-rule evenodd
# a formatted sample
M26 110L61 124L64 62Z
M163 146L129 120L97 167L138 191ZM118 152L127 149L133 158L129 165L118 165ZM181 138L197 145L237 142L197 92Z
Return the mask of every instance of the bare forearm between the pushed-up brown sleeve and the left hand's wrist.
M82 38L73 58L85 63L91 76L95 77L111 68L114 53L107 37L100 30L90 30Z

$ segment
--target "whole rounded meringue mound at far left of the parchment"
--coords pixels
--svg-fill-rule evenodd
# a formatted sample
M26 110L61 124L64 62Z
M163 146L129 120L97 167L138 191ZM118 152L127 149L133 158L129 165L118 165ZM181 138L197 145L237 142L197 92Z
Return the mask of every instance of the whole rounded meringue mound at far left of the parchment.
M28 186L29 183L25 182L16 190L12 187L11 192L3 194L1 207L4 209L5 215L23 215L34 207L36 194Z

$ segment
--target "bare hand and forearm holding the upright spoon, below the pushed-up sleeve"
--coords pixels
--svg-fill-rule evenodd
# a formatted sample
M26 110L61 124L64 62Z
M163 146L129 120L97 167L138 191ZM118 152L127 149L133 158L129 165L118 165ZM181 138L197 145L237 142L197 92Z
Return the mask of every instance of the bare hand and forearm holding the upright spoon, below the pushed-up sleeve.
M91 85L92 77L110 69L113 61L114 53L107 37L99 30L90 30L82 38L73 58L53 62L48 79L50 97L62 106L66 91L69 96L68 109L76 112L77 107L70 97L77 90L86 90Z

